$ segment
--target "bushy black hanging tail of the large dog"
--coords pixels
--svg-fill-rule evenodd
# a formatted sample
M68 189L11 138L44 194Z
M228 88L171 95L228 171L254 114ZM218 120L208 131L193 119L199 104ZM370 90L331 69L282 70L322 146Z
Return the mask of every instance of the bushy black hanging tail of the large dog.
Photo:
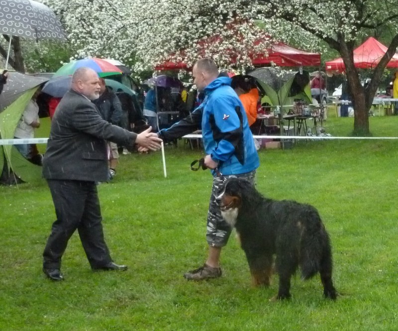
M309 228L301 232L300 269L303 279L309 279L317 274L326 264L331 264L331 248L329 235L316 210L311 216Z

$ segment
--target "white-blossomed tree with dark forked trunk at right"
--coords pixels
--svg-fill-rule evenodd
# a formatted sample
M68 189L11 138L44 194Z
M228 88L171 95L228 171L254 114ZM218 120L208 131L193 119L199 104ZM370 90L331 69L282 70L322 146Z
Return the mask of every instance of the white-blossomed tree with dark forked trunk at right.
M44 0L43 0L44 1ZM296 39L308 46L325 42L342 57L355 110L354 130L368 135L368 110L382 73L398 46L398 3L376 0L45 0L62 16L76 56L96 55L154 68L164 60L198 53L217 63L250 66L250 54L264 52L267 41L253 49L266 31L277 39ZM262 22L261 31L256 21ZM362 87L353 62L356 41L388 30L387 53ZM217 36L206 39L209 36ZM264 36L263 36L264 37ZM207 42L209 41L209 42ZM312 48L311 47L311 48ZM313 50L306 48L308 50ZM183 50L183 51L182 51Z

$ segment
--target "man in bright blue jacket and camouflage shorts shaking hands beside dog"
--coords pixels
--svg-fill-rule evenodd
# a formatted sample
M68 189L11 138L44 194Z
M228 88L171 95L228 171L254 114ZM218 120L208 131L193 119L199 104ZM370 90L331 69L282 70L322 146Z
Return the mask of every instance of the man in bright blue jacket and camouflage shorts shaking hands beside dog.
M165 140L176 139L201 128L206 156L204 165L213 175L212 192L207 214L206 240L209 245L203 266L184 274L189 280L221 276L220 254L232 228L223 220L215 200L222 184L230 177L239 177L255 184L259 158L242 103L230 87L229 77L220 77L214 61L200 59L193 68L194 84L204 92L203 103L188 117L168 129L159 131Z

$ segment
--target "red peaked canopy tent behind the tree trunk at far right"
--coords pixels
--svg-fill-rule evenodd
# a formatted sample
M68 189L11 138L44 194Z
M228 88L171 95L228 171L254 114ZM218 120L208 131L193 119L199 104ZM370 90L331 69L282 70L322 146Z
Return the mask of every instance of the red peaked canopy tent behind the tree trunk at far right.
M356 68L370 69L377 66L381 58L387 52L387 47L375 38L368 38L361 46L354 49L354 65ZM325 63L326 71L342 73L345 65L342 58ZM398 55L395 54L387 64L387 68L398 68Z

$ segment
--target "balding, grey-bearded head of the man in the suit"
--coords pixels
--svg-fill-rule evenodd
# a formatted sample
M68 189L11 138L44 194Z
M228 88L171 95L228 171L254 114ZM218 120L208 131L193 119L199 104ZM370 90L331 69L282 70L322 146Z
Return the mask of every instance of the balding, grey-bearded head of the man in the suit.
M72 89L90 100L100 97L100 79L97 72L87 67L76 69L72 76Z

